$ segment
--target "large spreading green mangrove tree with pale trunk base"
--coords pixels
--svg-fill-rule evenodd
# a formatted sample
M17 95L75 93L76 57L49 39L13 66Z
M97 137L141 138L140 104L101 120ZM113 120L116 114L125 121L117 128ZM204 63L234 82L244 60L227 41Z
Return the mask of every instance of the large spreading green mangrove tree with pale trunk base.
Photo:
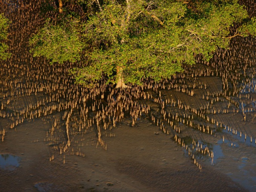
M83 85L102 76L117 87L170 78L183 64L195 64L195 56L209 61L216 49L228 48L231 38L256 35L255 18L237 0L77 3L85 19L63 9L59 21L47 20L30 45L34 56L51 62L75 62L82 55L83 66L71 73Z

